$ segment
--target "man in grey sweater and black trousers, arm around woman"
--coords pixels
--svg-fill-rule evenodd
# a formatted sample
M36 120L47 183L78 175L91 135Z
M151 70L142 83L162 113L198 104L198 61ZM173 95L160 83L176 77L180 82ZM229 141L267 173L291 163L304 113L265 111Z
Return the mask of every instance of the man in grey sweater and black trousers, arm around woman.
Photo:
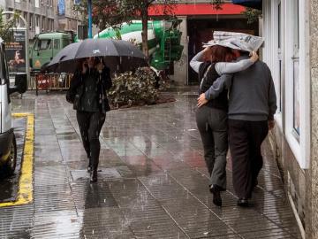
M240 52L238 60L247 57ZM247 206L262 167L261 143L274 127L276 92L269 66L257 61L244 71L223 75L198 98L198 106L229 89L229 139L233 187L238 205Z

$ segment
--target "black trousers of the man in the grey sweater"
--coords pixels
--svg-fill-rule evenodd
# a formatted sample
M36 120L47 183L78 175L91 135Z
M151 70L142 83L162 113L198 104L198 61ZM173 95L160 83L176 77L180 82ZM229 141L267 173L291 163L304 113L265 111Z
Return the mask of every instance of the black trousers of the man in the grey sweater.
M228 121L233 187L239 198L250 198L263 165L261 143L269 133L268 121Z

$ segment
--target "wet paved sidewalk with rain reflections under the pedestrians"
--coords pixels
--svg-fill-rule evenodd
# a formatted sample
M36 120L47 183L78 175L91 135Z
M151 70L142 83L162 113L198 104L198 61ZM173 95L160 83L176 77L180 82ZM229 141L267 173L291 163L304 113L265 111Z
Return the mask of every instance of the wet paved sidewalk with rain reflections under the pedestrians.
M34 203L0 207L0 238L301 238L268 142L251 207L236 205L230 163L223 207L212 203L196 96L170 94L107 113L95 184L64 95L13 99L14 112L34 112Z

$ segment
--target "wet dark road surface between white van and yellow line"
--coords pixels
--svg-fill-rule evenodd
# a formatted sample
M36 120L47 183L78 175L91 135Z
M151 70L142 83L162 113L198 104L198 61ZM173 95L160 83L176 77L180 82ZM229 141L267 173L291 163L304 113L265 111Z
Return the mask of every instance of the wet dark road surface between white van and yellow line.
M14 134L17 141L17 166L13 175L0 175L0 203L15 201L18 196L19 173L25 141L26 124L27 118L16 118L13 120Z

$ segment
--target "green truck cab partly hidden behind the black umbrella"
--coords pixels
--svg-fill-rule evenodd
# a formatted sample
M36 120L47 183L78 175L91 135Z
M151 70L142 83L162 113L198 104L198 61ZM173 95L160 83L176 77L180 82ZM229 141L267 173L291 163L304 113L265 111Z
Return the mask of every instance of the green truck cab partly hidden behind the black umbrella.
M72 33L52 32L34 36L29 50L31 72L40 72L52 58L68 44L74 42Z

